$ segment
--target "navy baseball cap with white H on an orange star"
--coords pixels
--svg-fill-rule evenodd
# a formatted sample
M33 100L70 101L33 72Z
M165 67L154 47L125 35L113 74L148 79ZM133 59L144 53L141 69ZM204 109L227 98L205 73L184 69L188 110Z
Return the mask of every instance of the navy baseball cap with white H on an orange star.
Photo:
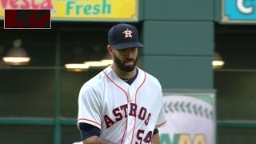
M140 42L138 42L137 28L123 22L110 29L108 41L109 45L113 46L114 49L144 47Z

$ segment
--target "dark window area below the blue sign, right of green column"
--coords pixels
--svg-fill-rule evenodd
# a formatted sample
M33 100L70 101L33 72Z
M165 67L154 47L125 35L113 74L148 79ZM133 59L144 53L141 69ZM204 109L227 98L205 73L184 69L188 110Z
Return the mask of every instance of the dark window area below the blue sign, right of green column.
M255 25L215 26L215 48L225 61L214 70L218 143L255 142L255 39Z

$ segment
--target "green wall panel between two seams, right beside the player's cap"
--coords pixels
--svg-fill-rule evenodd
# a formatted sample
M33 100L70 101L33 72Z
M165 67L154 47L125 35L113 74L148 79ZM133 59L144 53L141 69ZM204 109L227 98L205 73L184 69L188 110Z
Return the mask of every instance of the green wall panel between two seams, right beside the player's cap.
M214 48L212 22L144 22L144 54L211 56Z

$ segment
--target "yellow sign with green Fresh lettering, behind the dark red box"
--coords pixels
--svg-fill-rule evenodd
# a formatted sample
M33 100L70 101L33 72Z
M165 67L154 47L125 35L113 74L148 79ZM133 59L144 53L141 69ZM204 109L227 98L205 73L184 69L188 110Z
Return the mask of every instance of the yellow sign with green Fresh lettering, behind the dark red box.
M50 9L52 20L138 21L138 0L0 0L5 9Z

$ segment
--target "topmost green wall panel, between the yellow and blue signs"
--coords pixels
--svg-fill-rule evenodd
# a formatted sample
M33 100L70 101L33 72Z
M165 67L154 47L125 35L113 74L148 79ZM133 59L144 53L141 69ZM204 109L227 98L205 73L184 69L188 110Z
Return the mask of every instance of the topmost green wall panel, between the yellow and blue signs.
M146 20L210 20L214 19L214 0L145 0Z

